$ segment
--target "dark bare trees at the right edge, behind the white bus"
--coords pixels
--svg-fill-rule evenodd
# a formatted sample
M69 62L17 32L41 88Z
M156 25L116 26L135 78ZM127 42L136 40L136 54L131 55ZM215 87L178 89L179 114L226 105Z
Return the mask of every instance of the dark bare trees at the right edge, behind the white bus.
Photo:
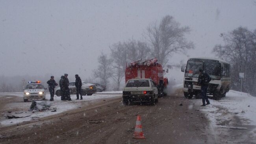
M221 34L221 37L224 45L215 45L213 52L232 63L233 88L238 89L236 83L239 83L239 72L244 72L243 91L252 92L255 89L252 87L255 87L256 30L252 32L245 27L238 27L228 34Z

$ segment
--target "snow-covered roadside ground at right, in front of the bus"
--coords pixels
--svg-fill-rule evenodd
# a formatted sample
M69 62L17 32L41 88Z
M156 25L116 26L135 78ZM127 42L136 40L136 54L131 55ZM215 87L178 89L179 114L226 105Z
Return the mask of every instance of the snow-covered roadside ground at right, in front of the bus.
M215 141L226 144L256 143L256 97L230 90L226 97L200 107L210 121ZM201 100L196 104L202 104Z

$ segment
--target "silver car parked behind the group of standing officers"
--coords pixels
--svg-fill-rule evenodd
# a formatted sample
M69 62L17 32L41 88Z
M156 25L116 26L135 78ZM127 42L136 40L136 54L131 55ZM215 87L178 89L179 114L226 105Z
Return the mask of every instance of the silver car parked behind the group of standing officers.
M69 83L69 90L70 90L70 94L76 94L76 86L74 81ZM85 83L84 81L82 81L82 95L92 95L96 91L97 91L96 85L91 83ZM57 96L60 96L61 94L60 87L56 88L55 94Z

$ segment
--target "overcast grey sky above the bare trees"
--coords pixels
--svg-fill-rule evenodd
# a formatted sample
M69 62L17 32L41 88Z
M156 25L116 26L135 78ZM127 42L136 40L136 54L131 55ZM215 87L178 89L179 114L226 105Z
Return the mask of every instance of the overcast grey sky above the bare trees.
M189 26L191 56L213 57L222 32L256 29L254 0L0 0L0 75L89 77L100 52L143 39L165 15ZM170 62L186 61L174 55Z

